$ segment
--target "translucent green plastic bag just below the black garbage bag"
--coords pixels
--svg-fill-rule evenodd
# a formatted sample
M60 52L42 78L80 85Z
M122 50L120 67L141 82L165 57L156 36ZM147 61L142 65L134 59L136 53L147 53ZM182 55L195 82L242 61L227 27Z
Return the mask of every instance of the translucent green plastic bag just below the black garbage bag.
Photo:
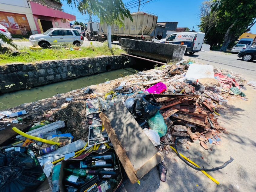
M159 110L157 111L155 116L148 119L148 125L150 129L153 129L156 132L158 132L158 135L160 137L165 136L167 131L167 126L165 124L165 120L163 116L159 113Z

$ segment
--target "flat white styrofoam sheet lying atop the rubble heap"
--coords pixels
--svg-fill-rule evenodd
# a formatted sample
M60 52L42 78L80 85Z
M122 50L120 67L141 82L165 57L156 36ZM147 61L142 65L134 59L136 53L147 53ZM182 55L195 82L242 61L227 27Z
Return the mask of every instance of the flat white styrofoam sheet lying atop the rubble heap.
M197 64L189 65L187 74L185 75L185 79L196 80L200 78L214 78L212 65L197 65Z

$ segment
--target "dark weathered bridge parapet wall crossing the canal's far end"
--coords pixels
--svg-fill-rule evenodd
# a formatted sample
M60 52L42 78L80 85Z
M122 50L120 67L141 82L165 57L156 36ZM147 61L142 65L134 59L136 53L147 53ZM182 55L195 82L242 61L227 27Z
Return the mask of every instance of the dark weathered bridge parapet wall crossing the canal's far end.
M134 39L121 39L121 48L129 48L129 53L158 59L161 61L180 61L186 50L185 45L174 45L168 43L156 43L151 41L139 41Z

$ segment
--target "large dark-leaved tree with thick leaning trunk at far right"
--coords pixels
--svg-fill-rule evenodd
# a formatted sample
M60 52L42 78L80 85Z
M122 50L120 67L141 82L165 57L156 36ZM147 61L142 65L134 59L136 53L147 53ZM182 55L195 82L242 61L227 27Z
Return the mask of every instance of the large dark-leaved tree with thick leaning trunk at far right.
M218 25L224 31L224 41L220 51L226 51L234 38L250 30L256 18L256 0L214 0L211 14L216 13Z

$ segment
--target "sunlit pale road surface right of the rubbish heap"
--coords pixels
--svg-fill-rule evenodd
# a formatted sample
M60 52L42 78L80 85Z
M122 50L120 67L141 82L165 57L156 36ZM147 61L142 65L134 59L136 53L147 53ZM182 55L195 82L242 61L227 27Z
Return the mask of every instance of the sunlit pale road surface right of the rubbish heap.
M192 56L185 55L184 58L230 69L241 74L246 80L256 80L256 62L241 61L236 54L225 55L210 51L196 53ZM178 146L185 157L190 157L191 161L204 168L221 166L230 159L230 156L233 157L234 161L227 167L208 172L220 182L219 185L201 171L186 165L175 152L171 151L167 155L163 154L164 163L168 169L166 182L160 181L158 170L155 167L140 179L140 185L137 183L132 185L128 180L121 192L256 191L256 89L248 85L245 87L247 90L244 93L247 95L248 101L240 98L231 99L226 106L223 104L223 109L220 111L221 117L215 117L218 118L218 123L229 131L229 134L220 134L222 139L220 146L211 144L210 147L213 151L204 150L199 144L192 144L189 149L185 145Z

